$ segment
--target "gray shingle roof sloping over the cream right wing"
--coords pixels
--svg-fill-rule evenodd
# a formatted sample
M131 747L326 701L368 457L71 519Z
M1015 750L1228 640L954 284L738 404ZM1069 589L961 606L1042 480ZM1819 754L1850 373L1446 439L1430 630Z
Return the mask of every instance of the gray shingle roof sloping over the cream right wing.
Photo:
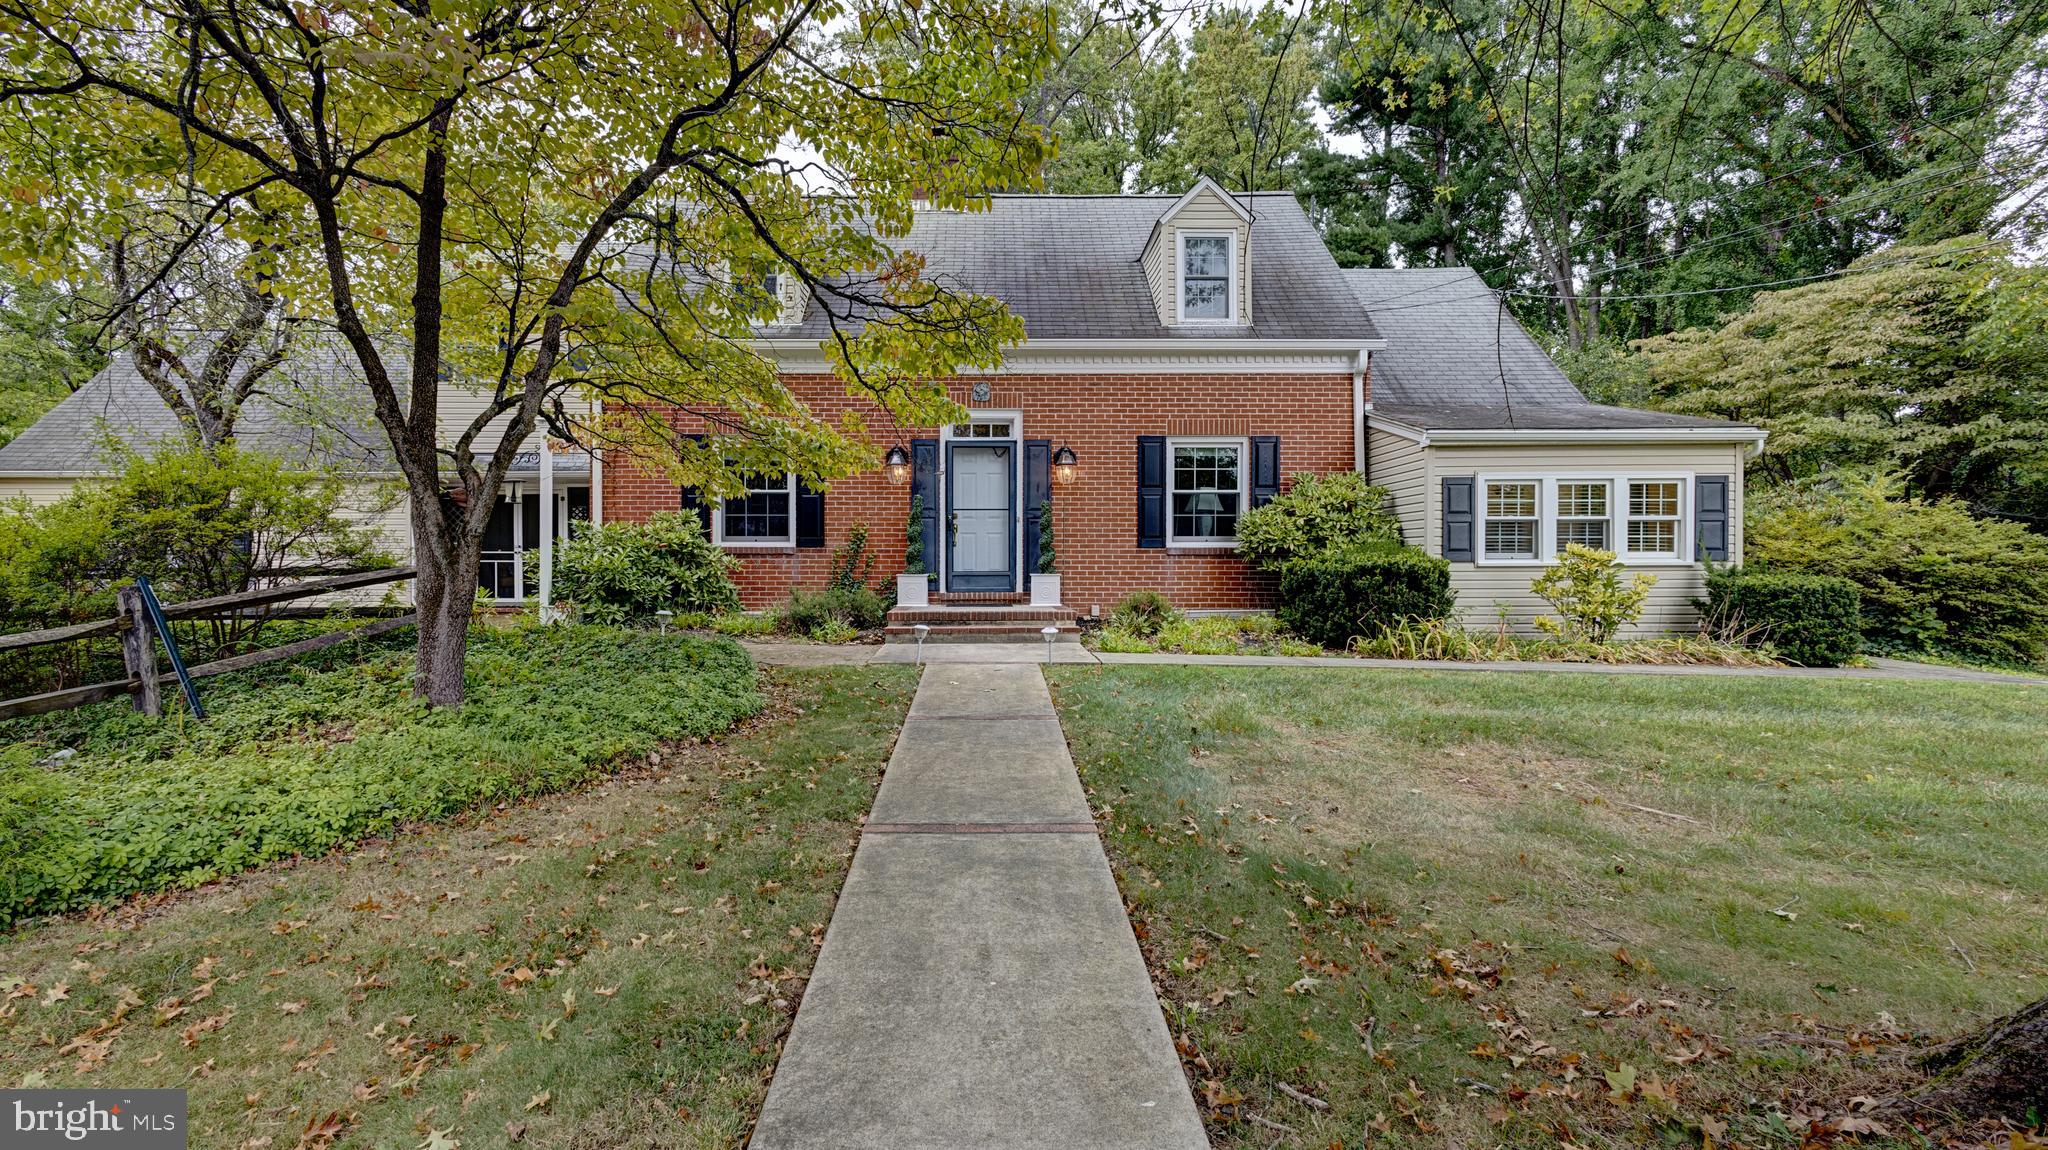
M1745 424L1587 403L1473 268L1348 268L1386 348L1372 411L1423 430L1647 430Z

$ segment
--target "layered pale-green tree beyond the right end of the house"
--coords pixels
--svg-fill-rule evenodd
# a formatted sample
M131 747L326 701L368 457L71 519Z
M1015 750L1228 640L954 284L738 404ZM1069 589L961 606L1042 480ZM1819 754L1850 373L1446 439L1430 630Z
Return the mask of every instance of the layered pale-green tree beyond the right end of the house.
M1901 471L1915 497L2048 516L2048 272L1962 237L1636 344L1651 399L1769 432L1763 479Z

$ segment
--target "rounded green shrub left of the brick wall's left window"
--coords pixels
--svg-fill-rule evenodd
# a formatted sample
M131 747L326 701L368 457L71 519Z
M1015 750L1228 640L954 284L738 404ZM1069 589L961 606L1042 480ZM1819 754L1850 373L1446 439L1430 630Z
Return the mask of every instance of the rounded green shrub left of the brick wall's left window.
M659 610L737 612L739 563L705 538L696 516L657 512L645 524L575 524L555 557L555 595L584 622L647 622Z

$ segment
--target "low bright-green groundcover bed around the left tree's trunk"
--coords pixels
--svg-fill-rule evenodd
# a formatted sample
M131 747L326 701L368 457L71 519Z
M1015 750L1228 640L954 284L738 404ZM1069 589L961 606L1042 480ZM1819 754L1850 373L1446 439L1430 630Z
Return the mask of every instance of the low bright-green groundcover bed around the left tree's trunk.
M205 722L121 700L0 724L0 923L578 786L762 708L727 638L551 626L473 634L469 702L428 710L408 640L209 679Z

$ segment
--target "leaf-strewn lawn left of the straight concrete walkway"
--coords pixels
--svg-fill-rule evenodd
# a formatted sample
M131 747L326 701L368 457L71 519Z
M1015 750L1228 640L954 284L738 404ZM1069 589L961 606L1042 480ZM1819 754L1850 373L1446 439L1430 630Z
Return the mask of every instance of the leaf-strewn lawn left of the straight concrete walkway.
M0 1082L184 1087L195 1148L737 1146L913 683L772 671L586 790L18 929Z

